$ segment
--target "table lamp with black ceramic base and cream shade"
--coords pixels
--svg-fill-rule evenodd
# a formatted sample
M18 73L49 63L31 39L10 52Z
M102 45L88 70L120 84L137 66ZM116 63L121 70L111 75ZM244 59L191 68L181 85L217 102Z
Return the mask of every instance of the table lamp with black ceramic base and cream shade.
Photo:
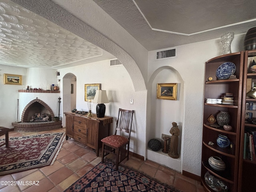
M106 90L96 90L93 102L98 103L98 105L96 106L97 117L104 117L106 111L106 106L104 105L104 103L109 103Z

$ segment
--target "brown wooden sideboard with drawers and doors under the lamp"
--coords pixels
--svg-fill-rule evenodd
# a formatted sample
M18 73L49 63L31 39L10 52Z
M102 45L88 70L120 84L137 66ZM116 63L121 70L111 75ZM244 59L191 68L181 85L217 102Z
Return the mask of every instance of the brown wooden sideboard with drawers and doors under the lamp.
M66 116L66 140L68 137L85 144L96 151L99 156L99 148L102 147L102 138L110 135L112 117L98 118L96 115L86 115L72 112L64 112Z

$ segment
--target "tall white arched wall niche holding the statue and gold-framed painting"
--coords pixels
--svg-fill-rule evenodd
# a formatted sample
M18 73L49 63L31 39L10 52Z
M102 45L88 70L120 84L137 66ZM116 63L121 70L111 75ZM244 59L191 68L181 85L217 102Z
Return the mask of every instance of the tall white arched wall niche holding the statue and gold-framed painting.
M156 99L156 89L158 83L178 83L177 100ZM148 92L148 127L147 139L148 142L152 138L162 139L162 134L171 136L170 129L172 122L176 122L180 129L178 152L179 158L173 159L168 154L164 154L162 149L154 152L147 150L147 158L154 162L168 166L178 172L182 172L181 162L181 143L182 143L182 124L184 116L184 81L180 73L170 66L162 66L158 68L151 76L149 81ZM157 154L157 155L156 155Z

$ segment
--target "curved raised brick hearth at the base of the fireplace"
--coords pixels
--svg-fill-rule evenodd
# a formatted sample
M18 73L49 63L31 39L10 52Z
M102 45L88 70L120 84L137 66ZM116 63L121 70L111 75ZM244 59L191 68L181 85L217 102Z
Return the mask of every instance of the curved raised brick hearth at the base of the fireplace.
M48 122L24 122L24 123L12 123L14 130L19 132L37 132L48 131L52 129L62 128L62 121L48 121Z

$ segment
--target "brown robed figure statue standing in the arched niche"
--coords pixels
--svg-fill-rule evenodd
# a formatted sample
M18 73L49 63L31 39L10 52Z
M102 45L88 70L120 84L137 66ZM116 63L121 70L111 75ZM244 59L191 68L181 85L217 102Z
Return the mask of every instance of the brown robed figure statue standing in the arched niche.
M176 122L172 122L172 128L170 130L170 134L172 134L172 137L171 137L171 141L170 141L170 148L168 151L168 155L171 158L177 159L177 158L179 158L178 136L180 135L180 130L179 130Z

